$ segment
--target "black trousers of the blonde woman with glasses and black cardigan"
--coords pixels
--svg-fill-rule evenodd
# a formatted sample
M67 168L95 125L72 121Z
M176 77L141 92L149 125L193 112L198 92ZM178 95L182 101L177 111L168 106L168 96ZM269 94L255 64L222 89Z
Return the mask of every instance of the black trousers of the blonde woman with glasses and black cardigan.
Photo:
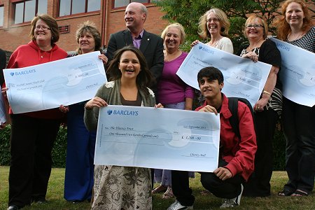
M276 130L278 114L269 109L255 113L257 152L255 169L247 183L244 183L244 196L267 197L270 195L272 177L272 141Z

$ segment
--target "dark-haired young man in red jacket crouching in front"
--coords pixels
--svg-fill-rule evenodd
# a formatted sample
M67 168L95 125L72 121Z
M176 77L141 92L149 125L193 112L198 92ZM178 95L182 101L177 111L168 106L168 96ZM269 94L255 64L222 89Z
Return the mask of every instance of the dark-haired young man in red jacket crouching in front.
M195 111L220 113L220 151L218 168L213 173L201 172L202 186L216 197L223 198L221 208L240 204L244 181L248 180L254 169L256 136L253 116L243 102L238 102L240 138L230 125L232 112L228 107L228 97L221 92L223 74L214 67L205 67L198 73L200 91L205 98L202 106ZM172 171L173 193L176 196L168 209L193 209L195 197L189 188L188 172Z

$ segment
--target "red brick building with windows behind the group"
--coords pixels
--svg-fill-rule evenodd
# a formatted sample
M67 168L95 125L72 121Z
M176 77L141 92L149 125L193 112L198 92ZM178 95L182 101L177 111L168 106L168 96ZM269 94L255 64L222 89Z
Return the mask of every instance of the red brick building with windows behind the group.
M47 13L56 18L59 31L59 47L76 50L75 33L80 23L90 20L107 45L109 35L125 29L125 7L132 0L0 0L0 48L13 52L19 45L30 41L31 19L36 13ZM139 0L148 8L145 29L161 34L167 21L162 20L160 9L151 0Z

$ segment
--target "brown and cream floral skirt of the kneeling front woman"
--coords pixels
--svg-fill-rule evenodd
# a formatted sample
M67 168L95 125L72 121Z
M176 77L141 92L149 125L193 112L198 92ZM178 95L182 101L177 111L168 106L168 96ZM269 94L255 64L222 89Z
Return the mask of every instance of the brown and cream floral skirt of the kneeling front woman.
M92 209L152 209L151 169L95 165Z

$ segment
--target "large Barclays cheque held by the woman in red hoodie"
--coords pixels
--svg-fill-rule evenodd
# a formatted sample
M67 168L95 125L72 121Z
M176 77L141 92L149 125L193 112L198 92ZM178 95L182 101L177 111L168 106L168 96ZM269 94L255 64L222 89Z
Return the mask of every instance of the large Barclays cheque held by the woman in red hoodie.
M52 109L94 97L106 79L100 52L20 69L4 69L13 113Z

